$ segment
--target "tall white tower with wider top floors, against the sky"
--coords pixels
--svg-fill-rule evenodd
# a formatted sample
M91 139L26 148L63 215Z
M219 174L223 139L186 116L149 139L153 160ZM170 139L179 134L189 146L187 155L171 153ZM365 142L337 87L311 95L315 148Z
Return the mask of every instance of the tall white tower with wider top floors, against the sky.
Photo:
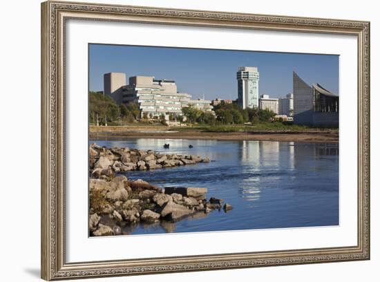
M258 69L242 66L236 73L238 79L238 104L242 109L258 108Z

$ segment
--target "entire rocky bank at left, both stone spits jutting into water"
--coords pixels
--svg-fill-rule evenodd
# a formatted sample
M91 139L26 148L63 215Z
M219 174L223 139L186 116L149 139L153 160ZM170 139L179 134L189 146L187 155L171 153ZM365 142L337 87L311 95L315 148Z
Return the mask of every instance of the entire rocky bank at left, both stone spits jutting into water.
M140 224L160 224L172 232L173 223L188 216L200 218L214 209L227 212L231 206L209 198L199 187L157 187L144 180L128 180L124 171L160 169L198 162L199 156L181 156L128 148L90 147L91 236L130 234Z

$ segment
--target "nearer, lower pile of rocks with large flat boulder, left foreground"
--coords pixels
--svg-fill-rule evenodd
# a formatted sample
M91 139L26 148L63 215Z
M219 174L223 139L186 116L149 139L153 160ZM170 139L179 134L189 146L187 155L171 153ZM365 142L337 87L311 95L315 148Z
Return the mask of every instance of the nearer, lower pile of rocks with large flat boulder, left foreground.
M213 209L227 212L231 205L223 200L206 198L207 189L165 187L160 189L143 180L125 176L111 179L90 178L89 229L92 236L120 235L127 225L176 222L196 213ZM126 233L127 234L127 233Z

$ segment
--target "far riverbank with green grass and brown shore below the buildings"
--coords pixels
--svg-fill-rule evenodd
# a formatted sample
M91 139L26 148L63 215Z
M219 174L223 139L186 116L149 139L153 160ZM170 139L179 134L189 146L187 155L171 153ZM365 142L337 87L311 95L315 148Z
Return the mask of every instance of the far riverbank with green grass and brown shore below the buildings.
M129 124L126 126L90 126L91 140L128 138L173 138L211 140L267 140L294 142L339 142L339 129L319 129L281 122L255 125L164 126Z

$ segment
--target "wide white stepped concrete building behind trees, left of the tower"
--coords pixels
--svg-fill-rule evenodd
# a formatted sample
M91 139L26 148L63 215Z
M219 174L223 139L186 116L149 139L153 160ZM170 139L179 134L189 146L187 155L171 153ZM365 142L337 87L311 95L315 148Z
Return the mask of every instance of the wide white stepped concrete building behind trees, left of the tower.
M108 76L113 84L113 75ZM117 81L118 82L118 81ZM129 84L122 86L122 91L117 93L121 95L122 103L130 102L138 103L141 115L145 113L148 117L160 117L164 114L169 119L169 115L182 115L182 108L193 106L202 111L212 111L211 101L209 100L191 100L188 93L180 93L177 91L177 85L173 80L155 79L152 76L135 76L129 77ZM106 85L106 82L104 83ZM120 97L117 97L120 100Z

